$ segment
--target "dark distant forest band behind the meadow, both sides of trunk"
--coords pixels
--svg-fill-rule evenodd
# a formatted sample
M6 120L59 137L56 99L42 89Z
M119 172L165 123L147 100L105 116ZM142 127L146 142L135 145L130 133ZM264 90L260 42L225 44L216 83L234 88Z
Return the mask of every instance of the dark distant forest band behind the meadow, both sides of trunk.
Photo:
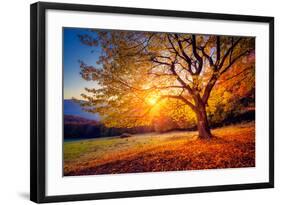
M223 122L211 121L211 127L221 127L229 124L236 124L245 121L255 120L255 111L247 110L238 115L229 116ZM137 134L148 132L167 132L172 130L196 130L196 125L179 127L170 119L155 122L154 126L134 127L134 128L114 128L106 127L95 120L89 120L73 115L64 115L64 138L65 139L85 139L118 136L124 133Z

